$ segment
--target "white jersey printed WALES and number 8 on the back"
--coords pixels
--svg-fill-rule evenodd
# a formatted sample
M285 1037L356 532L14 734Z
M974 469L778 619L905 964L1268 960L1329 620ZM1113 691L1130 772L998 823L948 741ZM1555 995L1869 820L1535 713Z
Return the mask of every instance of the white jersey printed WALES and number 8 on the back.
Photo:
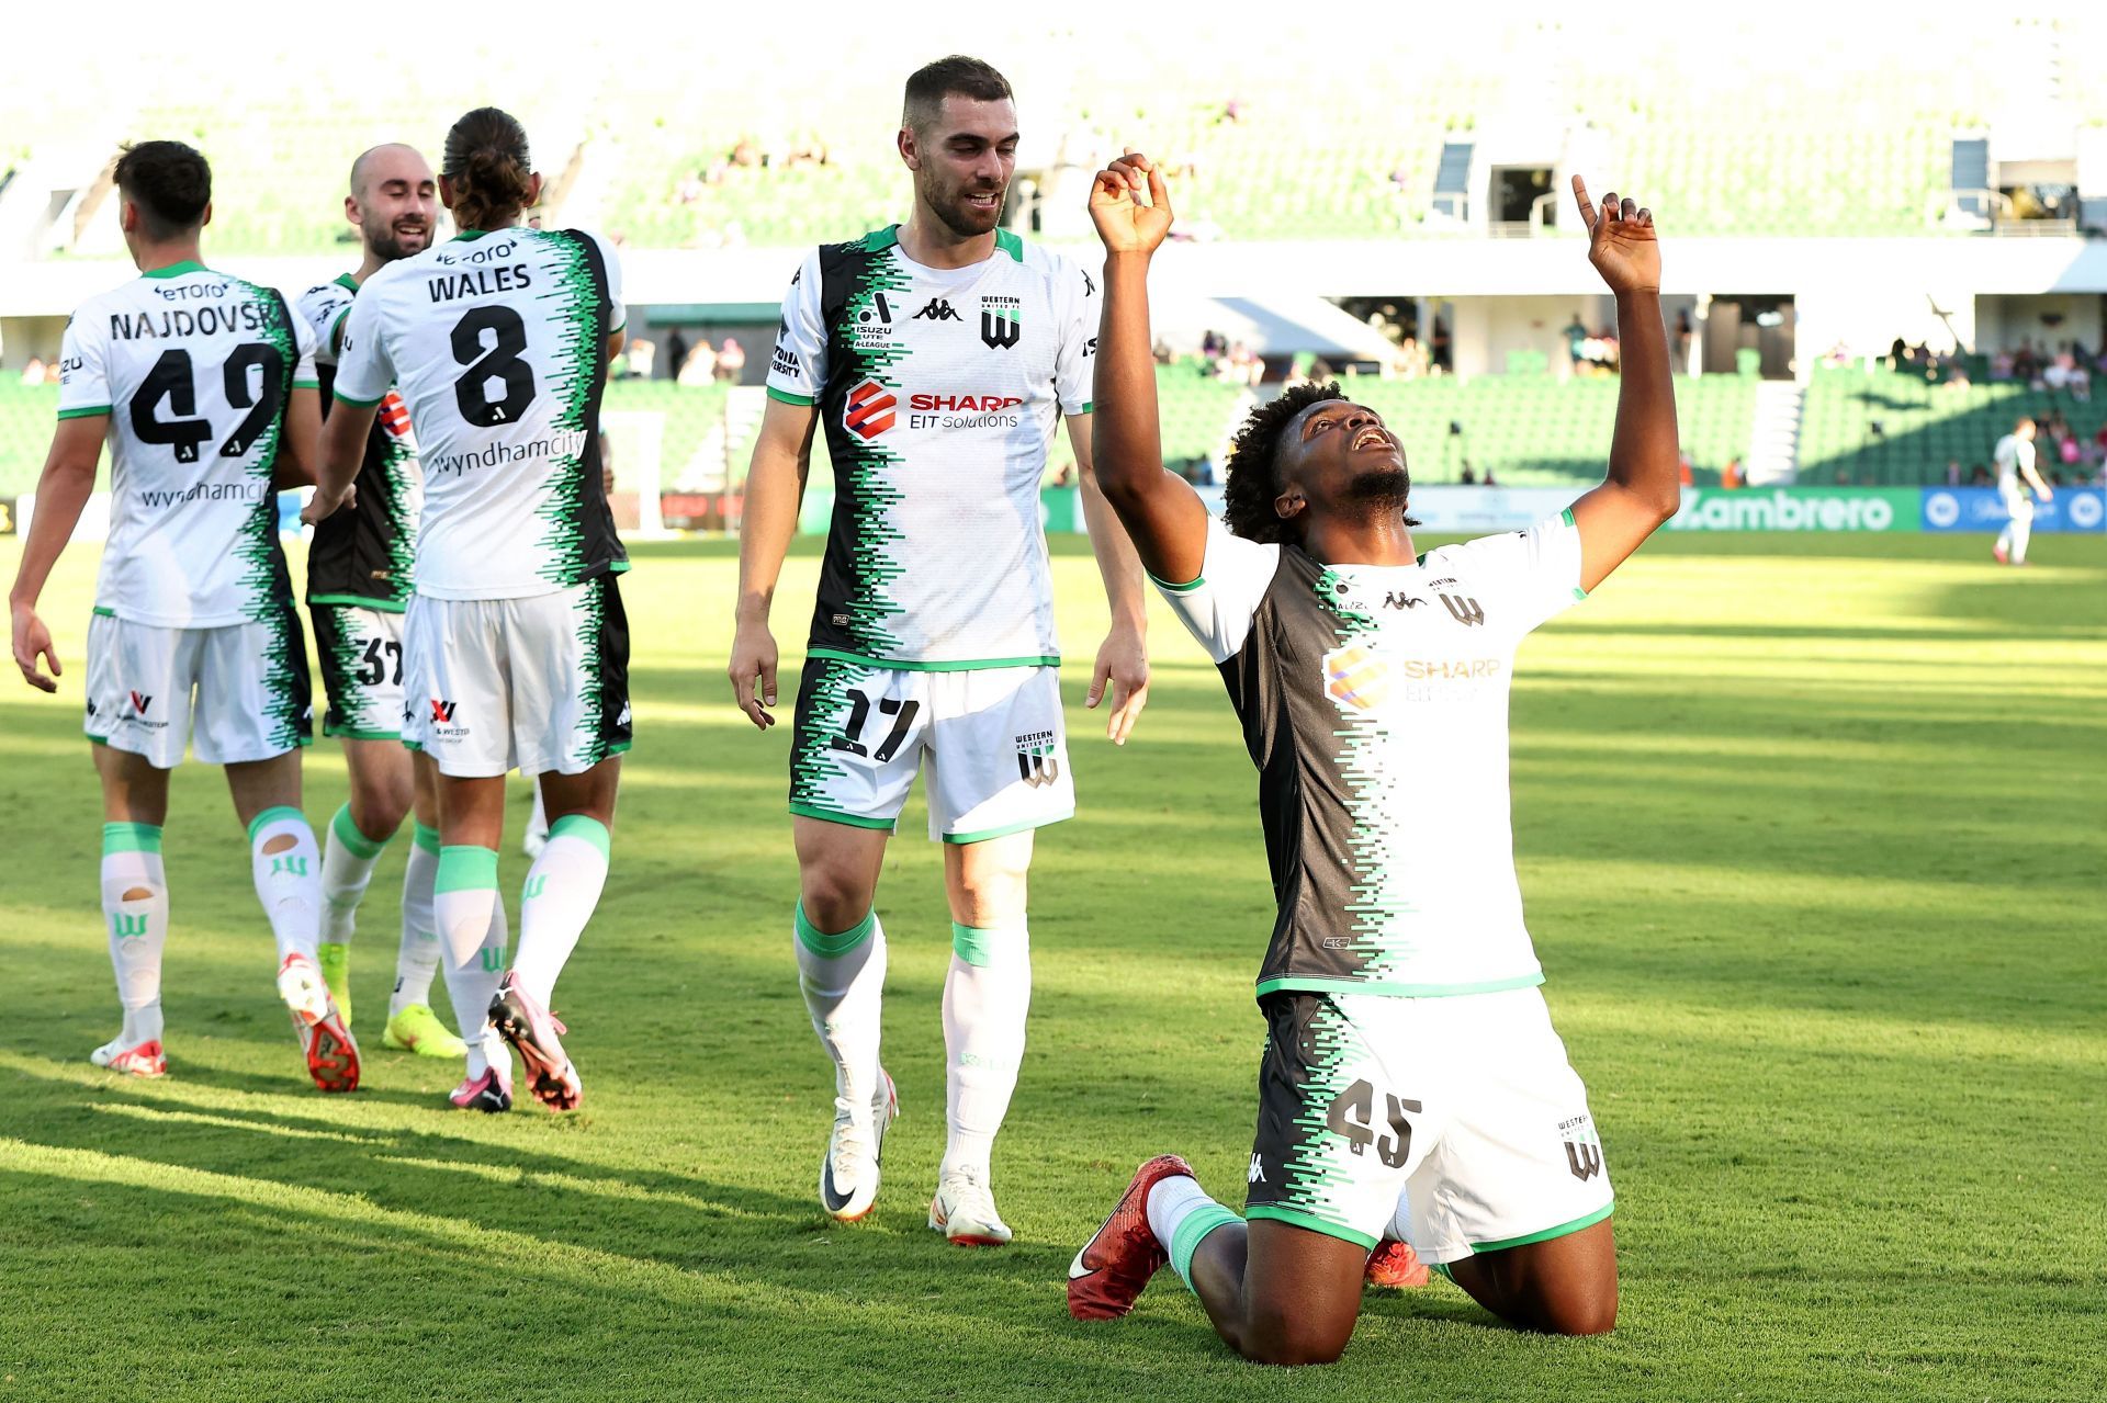
M628 569L600 485L615 251L582 230L461 234L352 301L335 398L394 386L417 426L417 592L525 598Z

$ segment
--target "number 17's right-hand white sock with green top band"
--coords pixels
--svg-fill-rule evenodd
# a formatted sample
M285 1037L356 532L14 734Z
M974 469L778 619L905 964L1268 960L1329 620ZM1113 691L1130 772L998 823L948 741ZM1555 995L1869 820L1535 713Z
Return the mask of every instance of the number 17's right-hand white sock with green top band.
M950 927L950 975L944 980L944 1102L950 1133L938 1178L959 1169L986 1173L995 1133L1009 1112L1024 1062L1024 1013L1032 1003L1030 935Z

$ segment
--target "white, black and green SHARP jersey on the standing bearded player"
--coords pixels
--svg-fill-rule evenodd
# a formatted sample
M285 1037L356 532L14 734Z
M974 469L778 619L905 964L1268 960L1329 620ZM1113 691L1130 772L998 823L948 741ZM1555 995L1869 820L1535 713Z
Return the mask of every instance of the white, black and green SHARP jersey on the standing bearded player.
M769 394L818 404L834 461L813 657L1060 661L1039 480L1096 350L1096 276L1007 230L969 268L908 259L898 228L805 257Z

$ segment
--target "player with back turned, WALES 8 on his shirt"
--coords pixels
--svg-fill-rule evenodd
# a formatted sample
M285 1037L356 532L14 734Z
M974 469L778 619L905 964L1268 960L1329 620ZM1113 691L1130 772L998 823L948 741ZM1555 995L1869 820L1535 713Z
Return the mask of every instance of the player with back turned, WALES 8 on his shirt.
M622 348L619 265L579 230L520 223L541 196L527 133L497 107L447 133L438 194L459 234L377 270L339 341L308 520L354 501L381 398L417 428L424 522L402 634L402 739L438 767L434 916L468 1076L455 1106L506 1110L510 1041L550 1110L584 1089L548 1005L607 885L630 748L628 556L600 478L600 392ZM506 969L495 921L506 771L539 775L548 847L527 872ZM487 1022L489 1020L489 1022Z

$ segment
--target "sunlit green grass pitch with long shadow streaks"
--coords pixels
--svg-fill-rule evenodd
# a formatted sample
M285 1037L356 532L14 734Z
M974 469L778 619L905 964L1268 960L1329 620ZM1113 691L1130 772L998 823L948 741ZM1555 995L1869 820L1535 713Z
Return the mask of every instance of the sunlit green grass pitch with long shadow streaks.
M1020 1245L961 1251L923 1228L948 916L921 805L881 889L906 1119L877 1216L841 1228L788 727L727 699L731 550L636 554L638 742L560 990L569 1119L451 1112L451 1064L377 1047L407 838L354 952L367 1089L314 1093L202 767L166 830L173 1074L86 1064L116 1001L78 723L93 552L63 562L63 695L0 685L0 1399L2101 1397L2101 541L2004 571L1974 537L1665 537L1525 645L1517 857L1616 1178L1622 1321L1521 1336L1437 1283L1372 1296L1344 1363L1296 1374L1233 1359L1169 1272L1127 1321L1062 1308L1142 1157L1241 1203L1271 902L1190 640L1157 611L1155 702L1115 752L1081 710L1102 602L1064 546L1081 815L1035 870L995 1163ZM786 702L813 577L801 554L780 592ZM318 744L318 828L341 796ZM514 908L523 872L508 851Z

